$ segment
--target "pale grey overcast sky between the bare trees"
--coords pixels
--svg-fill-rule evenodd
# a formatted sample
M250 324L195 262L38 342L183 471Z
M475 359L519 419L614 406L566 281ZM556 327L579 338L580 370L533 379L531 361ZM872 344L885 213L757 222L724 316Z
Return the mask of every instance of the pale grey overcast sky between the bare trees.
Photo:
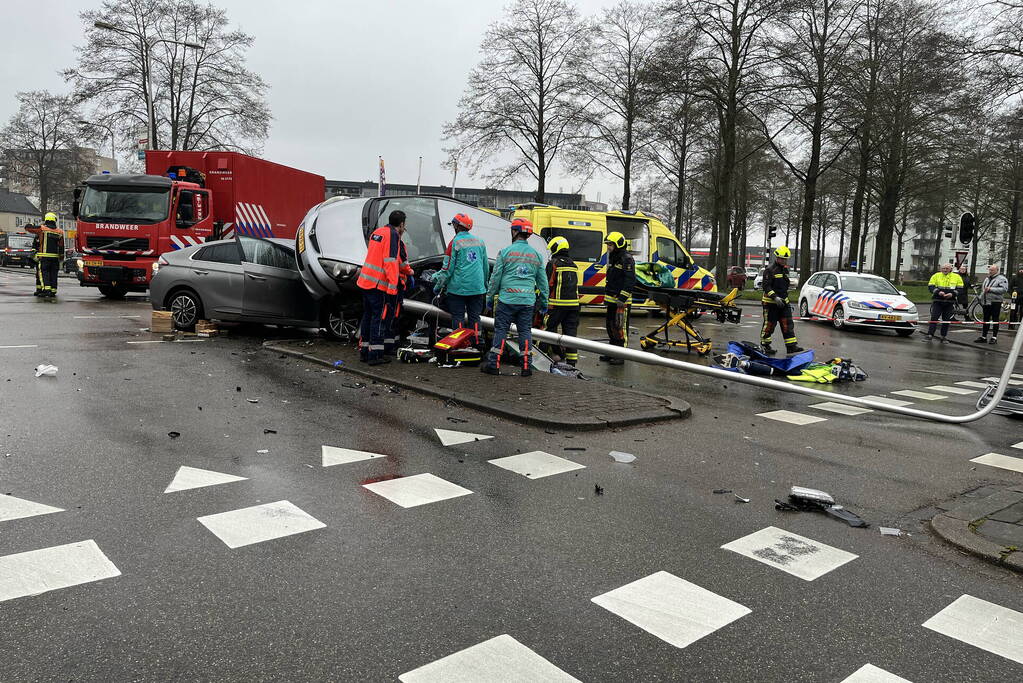
M483 31L501 14L499 0L214 0L231 22L255 37L249 67L270 86L273 112L266 158L336 180L376 177L449 185L441 127L457 110ZM611 0L578 0L595 13ZM4 0L8 30L0 41L0 122L15 110L14 93L66 90L60 70L82 44L78 13L100 2ZM459 185L476 185L459 172ZM519 181L531 188L533 181ZM550 191L578 181L549 178ZM620 185L595 179L585 188L607 201Z

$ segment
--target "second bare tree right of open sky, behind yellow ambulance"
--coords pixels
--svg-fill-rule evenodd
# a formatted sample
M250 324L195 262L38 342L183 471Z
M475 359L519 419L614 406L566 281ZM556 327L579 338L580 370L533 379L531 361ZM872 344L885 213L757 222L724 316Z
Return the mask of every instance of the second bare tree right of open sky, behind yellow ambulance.
M586 108L573 166L596 167L622 181L631 206L632 177L650 144L644 118L657 102L647 72L656 56L659 18L652 6L621 0L589 22L593 50L580 72Z

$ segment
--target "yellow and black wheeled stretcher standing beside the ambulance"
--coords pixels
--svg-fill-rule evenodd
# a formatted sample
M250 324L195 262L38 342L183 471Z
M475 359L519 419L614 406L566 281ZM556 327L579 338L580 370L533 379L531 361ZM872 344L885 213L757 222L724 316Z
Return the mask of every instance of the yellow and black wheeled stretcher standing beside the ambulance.
M662 287L637 281L636 289L657 304L664 312L664 322L653 332L639 339L644 351L652 349L685 349L685 353L696 351L706 356L711 350L711 340L694 326L702 313L712 313L719 322L738 324L742 310L732 304L739 289L728 293ZM671 328L681 330L680 338L672 338Z

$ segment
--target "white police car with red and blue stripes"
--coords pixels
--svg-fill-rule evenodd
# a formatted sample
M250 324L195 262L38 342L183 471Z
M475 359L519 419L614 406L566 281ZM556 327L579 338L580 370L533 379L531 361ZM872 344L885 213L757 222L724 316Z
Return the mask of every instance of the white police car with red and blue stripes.
M799 291L802 318L828 320L836 329L848 325L894 328L909 336L917 328L917 307L905 292L877 275L843 271L814 273Z

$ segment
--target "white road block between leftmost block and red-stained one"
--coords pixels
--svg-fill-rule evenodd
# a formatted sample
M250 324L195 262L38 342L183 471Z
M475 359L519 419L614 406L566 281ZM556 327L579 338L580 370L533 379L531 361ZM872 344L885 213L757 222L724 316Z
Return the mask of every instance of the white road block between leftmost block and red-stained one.
M198 517L228 548L311 532L326 527L297 505L280 500Z

